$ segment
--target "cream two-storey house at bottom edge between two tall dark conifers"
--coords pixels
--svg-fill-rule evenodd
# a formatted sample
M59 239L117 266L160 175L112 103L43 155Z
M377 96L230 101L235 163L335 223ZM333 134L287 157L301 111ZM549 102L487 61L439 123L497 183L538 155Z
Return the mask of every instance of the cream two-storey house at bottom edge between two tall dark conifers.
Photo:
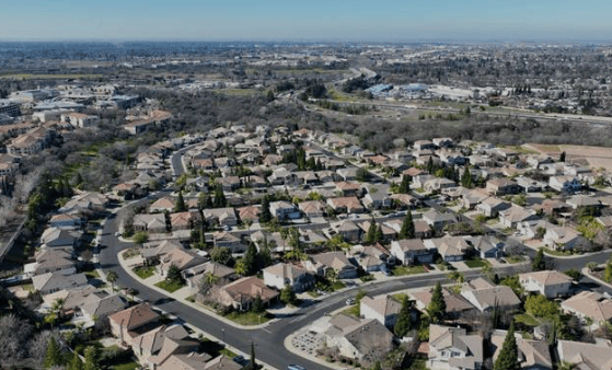
M461 327L429 325L429 369L478 370L483 361L482 336L467 335Z

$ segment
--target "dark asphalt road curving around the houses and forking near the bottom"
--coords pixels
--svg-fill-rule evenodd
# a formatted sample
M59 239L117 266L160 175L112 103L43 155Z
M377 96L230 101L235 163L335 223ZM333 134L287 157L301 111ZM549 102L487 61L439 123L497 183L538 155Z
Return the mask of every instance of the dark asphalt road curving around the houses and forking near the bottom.
M181 154L187 148L175 152L171 158L171 163L174 167L174 173L181 175L183 172L183 165L181 164ZM166 194L172 190L172 188L166 188L160 192L159 195ZM158 195L158 196L159 196ZM151 198L157 196L150 196L136 204L146 203ZM262 361L277 368L286 369L289 363L300 363L307 367L309 370L312 369L325 369L326 367L307 360L301 356L297 356L293 352L287 350L284 345L285 338L297 329L305 326L307 324L322 317L327 312L335 311L345 304L345 300L349 297L354 297L358 289L363 289L371 294L383 294L391 293L393 291L418 288L425 286L432 286L438 281L447 281L443 275L432 275L432 276L406 276L399 279L385 280L385 281L374 281L362 287L353 287L343 292L332 294L326 297L323 301L314 302L308 307L304 307L291 314L290 317L282 317L265 328L259 329L240 329L217 320L211 315L201 313L186 304L178 301L166 301L168 297L157 290L150 289L149 287L142 285L137 279L134 279L129 274L127 274L119 265L117 254L122 250L132 246L132 243L120 242L114 236L115 232L119 228L120 219L125 217L127 209L120 209L116 215L112 215L105 222L103 227L103 233L101 236L101 251L100 251L100 267L108 271L111 269L115 270L118 275L117 285L120 287L129 287L137 289L139 291L139 297L154 305L175 314L181 320L188 322L189 324L198 327L205 333L209 333L217 338L221 338L223 342L230 344L231 346L249 354L251 348L251 342L256 345L256 356ZM561 270L568 268L582 268L587 262L605 262L612 251L601 252L598 254L579 257L579 258L550 258L554 259L555 267ZM512 265L503 266L498 268L500 274L512 274L516 271L516 267ZM466 278L473 278L480 276L480 271L466 271ZM588 279L587 279L588 280ZM603 290L612 290L608 288L602 288L594 285L594 281L588 280L587 284L590 288L598 288Z

